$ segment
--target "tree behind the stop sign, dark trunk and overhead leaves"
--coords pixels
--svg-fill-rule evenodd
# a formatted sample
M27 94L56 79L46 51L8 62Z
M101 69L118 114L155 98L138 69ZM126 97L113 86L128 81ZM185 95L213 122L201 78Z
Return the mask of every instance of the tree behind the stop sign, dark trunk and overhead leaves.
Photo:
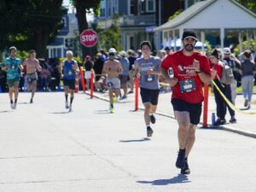
M77 18L79 23L79 34L83 32L85 29L88 29L88 21L86 18L86 13L90 13L93 11L96 15L99 14L99 9L101 6L101 0L73 0L73 4L77 9ZM93 49L85 48L84 45L81 44L81 49L83 53L83 57L85 55L93 55Z

